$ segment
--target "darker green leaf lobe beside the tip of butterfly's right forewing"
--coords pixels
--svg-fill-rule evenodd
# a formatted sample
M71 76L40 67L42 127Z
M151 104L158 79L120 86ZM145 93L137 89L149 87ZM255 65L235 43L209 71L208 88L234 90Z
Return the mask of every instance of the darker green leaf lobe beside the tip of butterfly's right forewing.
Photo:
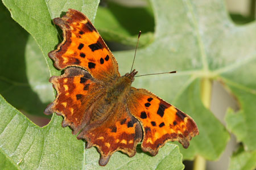
M199 98L201 86L199 79L194 80L174 100L175 105L184 108L183 111L194 118L200 133L192 139L187 149L180 145L180 151L184 159L193 159L195 155L201 155L205 159L216 160L225 150L229 135L221 122L201 102ZM187 101L184 102L184 99Z

